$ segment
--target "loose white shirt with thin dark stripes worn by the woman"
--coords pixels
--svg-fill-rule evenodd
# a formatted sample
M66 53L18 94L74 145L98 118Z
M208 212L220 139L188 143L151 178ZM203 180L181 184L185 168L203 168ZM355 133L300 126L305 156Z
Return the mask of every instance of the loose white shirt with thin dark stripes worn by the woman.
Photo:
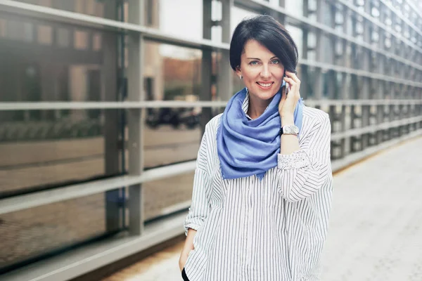
M248 110L248 95L243 110ZM331 124L303 109L300 150L278 155L262 181L223 180L217 155L221 115L205 126L184 223L197 230L185 271L190 281L320 280L331 210Z

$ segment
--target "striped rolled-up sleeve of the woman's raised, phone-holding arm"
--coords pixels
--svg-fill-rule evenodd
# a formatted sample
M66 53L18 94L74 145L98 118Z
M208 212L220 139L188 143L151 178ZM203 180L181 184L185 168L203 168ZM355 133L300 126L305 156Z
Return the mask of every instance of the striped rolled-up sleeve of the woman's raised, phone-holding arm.
M278 155L279 193L288 202L298 202L331 180L331 123L328 115L315 124L300 150Z

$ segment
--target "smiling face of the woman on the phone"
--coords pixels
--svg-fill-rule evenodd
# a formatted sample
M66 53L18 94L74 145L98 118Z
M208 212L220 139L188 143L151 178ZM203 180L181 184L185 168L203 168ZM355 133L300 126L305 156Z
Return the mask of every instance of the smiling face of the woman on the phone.
M236 74L243 76L250 95L269 100L283 83L284 66L274 53L251 39L245 44Z

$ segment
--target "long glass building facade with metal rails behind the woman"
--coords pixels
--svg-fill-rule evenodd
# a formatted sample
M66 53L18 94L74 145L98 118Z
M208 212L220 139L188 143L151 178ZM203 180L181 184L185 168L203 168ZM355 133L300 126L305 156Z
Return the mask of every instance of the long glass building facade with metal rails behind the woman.
M421 135L418 0L1 0L1 280L97 280L182 239L203 128L243 88L231 34L258 14L298 44L333 171Z

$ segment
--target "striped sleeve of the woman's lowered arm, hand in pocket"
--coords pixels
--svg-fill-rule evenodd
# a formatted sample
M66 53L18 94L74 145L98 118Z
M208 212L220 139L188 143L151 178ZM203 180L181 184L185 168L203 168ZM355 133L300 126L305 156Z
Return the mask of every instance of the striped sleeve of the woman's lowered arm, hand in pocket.
M192 203L184 221L185 235L188 229L198 230L202 226L210 211L211 182L207 165L208 145L207 134L210 131L205 127L205 133L200 143L196 159L195 176L193 178Z

